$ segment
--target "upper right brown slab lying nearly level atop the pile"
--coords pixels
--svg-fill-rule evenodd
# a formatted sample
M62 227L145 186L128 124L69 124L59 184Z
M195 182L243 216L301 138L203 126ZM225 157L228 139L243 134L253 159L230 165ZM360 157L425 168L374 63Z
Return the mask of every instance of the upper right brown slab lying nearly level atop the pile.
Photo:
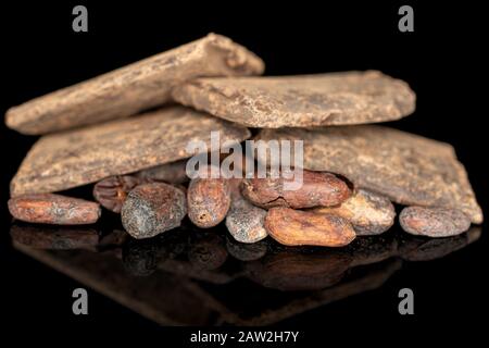
M408 84L375 71L199 78L172 95L186 105L264 128L375 123L401 119L415 108Z

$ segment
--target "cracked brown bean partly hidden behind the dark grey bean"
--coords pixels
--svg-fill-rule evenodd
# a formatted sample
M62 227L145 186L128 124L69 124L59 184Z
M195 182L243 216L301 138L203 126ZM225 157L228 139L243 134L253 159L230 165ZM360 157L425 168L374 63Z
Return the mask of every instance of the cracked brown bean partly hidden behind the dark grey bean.
M93 198L105 209L120 213L127 194L140 183L130 175L109 176L93 186Z

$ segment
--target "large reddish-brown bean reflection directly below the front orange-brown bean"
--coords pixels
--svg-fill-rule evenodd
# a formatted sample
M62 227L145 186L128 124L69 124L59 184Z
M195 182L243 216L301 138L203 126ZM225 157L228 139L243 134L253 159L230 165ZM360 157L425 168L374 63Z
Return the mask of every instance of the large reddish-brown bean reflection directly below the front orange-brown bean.
M284 291L316 290L338 283L349 269L351 258L341 252L280 252L249 262L248 276L265 287Z

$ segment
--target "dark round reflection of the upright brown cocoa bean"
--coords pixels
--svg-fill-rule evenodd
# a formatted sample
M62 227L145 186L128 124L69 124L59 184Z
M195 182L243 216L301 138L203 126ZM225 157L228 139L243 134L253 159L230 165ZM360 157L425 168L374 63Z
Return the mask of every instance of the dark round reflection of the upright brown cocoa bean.
M188 260L197 269L216 270L227 259L223 238L214 233L199 233L191 238Z

